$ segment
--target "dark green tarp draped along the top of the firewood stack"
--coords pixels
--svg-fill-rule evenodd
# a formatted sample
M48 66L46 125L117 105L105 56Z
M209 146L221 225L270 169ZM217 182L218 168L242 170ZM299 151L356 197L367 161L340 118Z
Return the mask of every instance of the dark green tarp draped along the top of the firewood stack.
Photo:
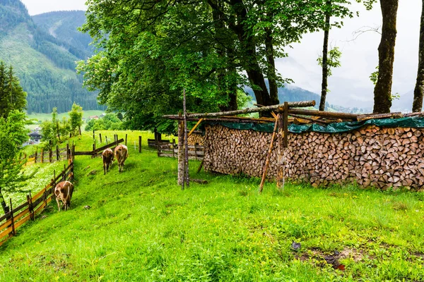
M227 128L233 129L250 129L260 132L272 133L274 123L225 123L225 122L208 122L208 124L219 124ZM364 125L377 125L379 127L387 128L424 128L424 118L411 117L411 118L381 118L370 119L367 121L348 121L344 123L330 123L323 126L314 124L290 124L288 131L290 133L304 133L304 132L320 132L320 133L342 133L355 130L363 127Z

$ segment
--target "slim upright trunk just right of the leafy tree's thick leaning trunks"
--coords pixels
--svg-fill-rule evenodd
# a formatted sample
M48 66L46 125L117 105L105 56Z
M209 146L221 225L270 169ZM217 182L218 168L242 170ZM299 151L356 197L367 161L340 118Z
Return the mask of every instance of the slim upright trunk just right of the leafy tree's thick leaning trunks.
M272 34L269 28L266 29L265 35L265 51L266 51L266 61L268 62L268 82L269 82L269 96L271 98L271 105L280 104L278 100L278 85L277 85L277 75L276 75L276 63L274 61L274 51L272 45Z

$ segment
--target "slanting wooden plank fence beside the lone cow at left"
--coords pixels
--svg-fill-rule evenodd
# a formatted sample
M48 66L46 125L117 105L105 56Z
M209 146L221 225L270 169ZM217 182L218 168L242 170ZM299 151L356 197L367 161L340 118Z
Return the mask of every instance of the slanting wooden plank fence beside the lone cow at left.
M0 245L16 235L16 229L26 221L34 220L35 216L40 214L49 202L52 202L57 183L62 180L73 180L73 157L69 159L68 166L66 164L64 166L64 170L58 176L54 175L52 181L40 192L34 196L27 195L27 200L23 204L13 208L12 200L10 200L10 211L0 216Z

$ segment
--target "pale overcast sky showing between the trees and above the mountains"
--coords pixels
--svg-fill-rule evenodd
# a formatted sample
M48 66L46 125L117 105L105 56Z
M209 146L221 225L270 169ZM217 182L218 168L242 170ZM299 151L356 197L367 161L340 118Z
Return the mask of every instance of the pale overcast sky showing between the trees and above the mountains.
M30 15L49 11L86 10L86 0L22 0ZM331 46L342 51L341 67L332 71L329 78L328 101L343 106L362 106L373 101L373 87L369 79L378 64L377 48L380 35L365 32L352 41L353 32L361 27L378 27L382 16L379 4L372 11L366 11L361 4L351 0L353 10L360 17L344 20L341 29L330 31ZM413 90L418 65L418 37L420 28L420 0L399 0L397 17L397 38L394 61L393 92L403 95ZM321 69L317 57L322 54L323 33L305 35L300 44L287 48L289 58L277 60L277 68L285 78L295 80L295 85L320 93Z

